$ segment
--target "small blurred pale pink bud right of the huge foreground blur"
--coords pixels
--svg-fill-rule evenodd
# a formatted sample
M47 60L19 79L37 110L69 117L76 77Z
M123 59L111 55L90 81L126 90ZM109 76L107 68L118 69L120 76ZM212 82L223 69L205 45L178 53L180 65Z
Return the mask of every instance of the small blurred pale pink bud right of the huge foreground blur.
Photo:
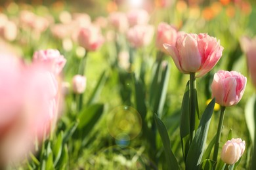
M81 94L85 92L86 78L82 75L75 75L72 80L74 93Z

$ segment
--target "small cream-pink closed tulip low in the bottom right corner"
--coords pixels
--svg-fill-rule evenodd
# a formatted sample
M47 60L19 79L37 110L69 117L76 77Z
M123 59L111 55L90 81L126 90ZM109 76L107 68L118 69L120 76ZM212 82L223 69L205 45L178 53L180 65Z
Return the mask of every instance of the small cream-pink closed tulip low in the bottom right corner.
M223 145L221 160L223 160L226 164L232 165L241 158L241 156L244 154L244 150L245 141L242 141L242 139L238 138L228 140Z

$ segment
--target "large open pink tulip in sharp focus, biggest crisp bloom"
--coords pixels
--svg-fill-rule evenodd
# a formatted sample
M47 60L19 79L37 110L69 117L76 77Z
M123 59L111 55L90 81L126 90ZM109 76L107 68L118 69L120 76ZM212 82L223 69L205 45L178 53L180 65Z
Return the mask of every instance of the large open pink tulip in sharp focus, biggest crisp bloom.
M222 56L223 46L205 33L181 34L176 46L163 44L181 73L198 73L200 77L211 71Z

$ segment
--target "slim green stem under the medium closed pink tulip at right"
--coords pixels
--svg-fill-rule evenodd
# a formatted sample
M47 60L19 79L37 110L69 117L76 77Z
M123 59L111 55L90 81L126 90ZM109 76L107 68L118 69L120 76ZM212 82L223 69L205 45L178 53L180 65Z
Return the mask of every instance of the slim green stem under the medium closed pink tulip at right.
M217 129L217 138L215 141L215 146L214 146L214 151L213 151L213 161L216 161L216 162L217 162L218 152L219 152L219 143L221 141L221 131L223 129L223 120L224 120L225 109L226 109L226 107L221 106L221 115L219 118L219 125L218 125L218 129ZM216 163L213 166L213 169L215 169L215 167L216 167Z

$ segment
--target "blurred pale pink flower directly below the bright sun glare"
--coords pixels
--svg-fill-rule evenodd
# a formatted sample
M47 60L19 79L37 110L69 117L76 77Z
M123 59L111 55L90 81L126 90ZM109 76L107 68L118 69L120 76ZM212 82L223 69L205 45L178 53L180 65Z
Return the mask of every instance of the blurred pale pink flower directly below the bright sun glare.
M144 25L148 24L149 14L144 9L133 9L127 13L127 19L131 27L134 25Z

